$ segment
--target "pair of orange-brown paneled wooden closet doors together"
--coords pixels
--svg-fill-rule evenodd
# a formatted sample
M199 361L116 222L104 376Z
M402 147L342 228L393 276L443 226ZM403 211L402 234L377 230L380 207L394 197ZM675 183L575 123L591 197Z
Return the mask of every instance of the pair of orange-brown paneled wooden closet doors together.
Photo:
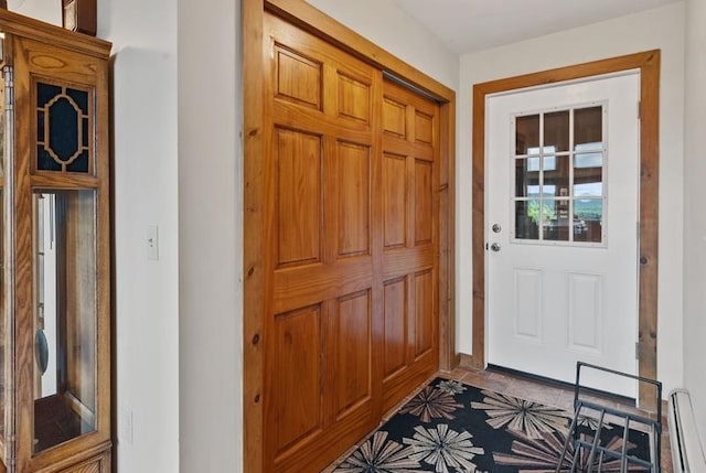
M438 106L265 17L264 471L319 472L438 368Z

